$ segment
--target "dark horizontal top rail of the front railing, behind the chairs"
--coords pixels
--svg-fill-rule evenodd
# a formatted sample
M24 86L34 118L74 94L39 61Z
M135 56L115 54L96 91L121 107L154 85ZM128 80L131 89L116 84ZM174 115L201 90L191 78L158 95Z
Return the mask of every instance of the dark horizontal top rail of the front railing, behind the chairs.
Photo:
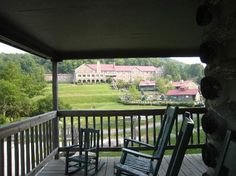
M178 113L205 113L205 108L180 108ZM128 116L128 115L158 115L164 114L165 109L139 109L139 110L59 110L57 115L63 116Z

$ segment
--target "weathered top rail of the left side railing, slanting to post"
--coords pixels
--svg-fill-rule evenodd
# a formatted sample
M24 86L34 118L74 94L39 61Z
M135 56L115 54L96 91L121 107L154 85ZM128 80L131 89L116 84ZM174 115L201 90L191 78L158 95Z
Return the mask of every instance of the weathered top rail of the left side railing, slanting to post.
M14 122L9 125L2 126L0 127L0 139L6 138L25 129L34 127L55 117L57 117L57 111L51 111L31 118L27 118L19 122Z

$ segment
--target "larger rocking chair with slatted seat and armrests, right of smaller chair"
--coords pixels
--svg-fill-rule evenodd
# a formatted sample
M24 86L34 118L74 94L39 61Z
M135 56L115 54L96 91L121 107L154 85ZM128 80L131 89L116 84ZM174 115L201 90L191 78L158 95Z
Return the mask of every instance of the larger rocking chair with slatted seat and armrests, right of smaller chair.
M141 141L125 139L120 163L114 166L116 175L146 175L149 173L157 175L174 124L174 120L177 118L177 110L178 107L167 106L163 125L160 129L155 146ZM153 154L148 155L129 149L128 145L130 142L152 149ZM153 167L153 163L156 163L155 167Z

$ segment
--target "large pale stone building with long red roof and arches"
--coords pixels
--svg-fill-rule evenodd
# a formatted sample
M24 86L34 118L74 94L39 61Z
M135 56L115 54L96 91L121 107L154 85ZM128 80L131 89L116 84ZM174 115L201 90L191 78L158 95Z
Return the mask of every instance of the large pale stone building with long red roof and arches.
M161 67L154 66L127 66L115 64L82 64L75 69L74 82L96 83L106 82L108 79L123 80L150 80L160 77L163 73Z

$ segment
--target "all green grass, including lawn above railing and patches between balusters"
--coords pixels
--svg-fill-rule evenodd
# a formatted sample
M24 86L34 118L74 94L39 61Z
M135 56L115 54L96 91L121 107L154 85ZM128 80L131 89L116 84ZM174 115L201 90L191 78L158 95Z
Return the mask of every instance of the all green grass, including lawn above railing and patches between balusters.
M51 94L52 88L51 84L45 88L45 94ZM123 105L118 102L119 96L122 94L119 90L112 90L109 84L90 84L90 85L74 85L74 84L59 84L59 100L62 100L64 103L70 104L74 110L131 110L131 109L153 109L153 108L165 108L161 106L142 106L142 105ZM39 98L39 97L38 97ZM91 120L91 119L90 119ZM97 129L100 129L99 117L96 119ZM85 123L84 119L81 119L81 125ZM107 118L103 119L104 129L108 129ZM144 122L141 121L141 124ZM77 121L74 122L77 124ZM92 125L92 123L89 123ZM127 127L129 122L126 123ZM119 128L123 127L123 120L118 120ZM121 126L121 127L120 127ZM114 117L111 117L111 129L115 128ZM180 124L179 124L180 128ZM142 135L145 134L145 129L141 130ZM153 129L149 128L149 142L152 143ZM159 129L156 129L157 134ZM173 128L173 133L175 133L175 125ZM114 137L115 134L111 136ZM118 134L119 137L123 137L123 133ZM131 136L130 132L127 132L127 137ZM107 138L107 134L104 134L104 139ZM196 133L193 135L194 141L196 141ZM203 141L203 135L201 135L201 141ZM171 138L172 143L175 143L175 138ZM150 151L145 151L149 153ZM187 153L199 153L200 149L188 149ZM172 150L167 150L166 154L170 155ZM101 156L120 156L120 152L101 152Z

